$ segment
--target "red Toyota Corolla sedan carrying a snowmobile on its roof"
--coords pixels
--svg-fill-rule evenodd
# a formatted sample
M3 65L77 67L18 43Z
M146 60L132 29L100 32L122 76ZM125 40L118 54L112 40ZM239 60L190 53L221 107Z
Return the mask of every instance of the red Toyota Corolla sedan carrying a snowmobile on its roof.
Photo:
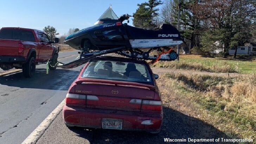
M163 112L157 78L146 61L92 59L68 90L65 124L159 133Z

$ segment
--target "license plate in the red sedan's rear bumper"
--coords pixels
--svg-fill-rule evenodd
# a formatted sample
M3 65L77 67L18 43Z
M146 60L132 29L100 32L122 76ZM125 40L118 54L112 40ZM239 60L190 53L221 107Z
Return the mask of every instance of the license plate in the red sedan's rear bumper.
M102 126L102 129L122 130L123 120L103 118L101 120L101 126Z

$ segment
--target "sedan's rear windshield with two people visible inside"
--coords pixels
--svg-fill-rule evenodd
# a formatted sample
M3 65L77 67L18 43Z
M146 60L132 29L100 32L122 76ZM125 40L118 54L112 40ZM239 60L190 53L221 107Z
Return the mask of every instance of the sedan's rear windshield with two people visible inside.
M92 60L82 77L153 84L145 65L120 61Z

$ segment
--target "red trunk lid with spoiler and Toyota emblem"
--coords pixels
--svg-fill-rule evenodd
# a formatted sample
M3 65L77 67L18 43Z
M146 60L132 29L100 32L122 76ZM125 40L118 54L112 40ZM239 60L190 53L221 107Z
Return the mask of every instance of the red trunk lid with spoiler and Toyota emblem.
M86 94L86 107L123 111L141 111L142 99L154 99L154 90L130 84L82 82L75 87L76 93Z

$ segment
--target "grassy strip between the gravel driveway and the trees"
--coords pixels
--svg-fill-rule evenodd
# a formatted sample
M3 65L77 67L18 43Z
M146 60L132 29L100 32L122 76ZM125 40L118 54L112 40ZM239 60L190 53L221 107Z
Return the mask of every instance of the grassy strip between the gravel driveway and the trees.
M256 60L207 58L201 55L180 55L180 62L159 61L156 67L223 73L256 73Z

